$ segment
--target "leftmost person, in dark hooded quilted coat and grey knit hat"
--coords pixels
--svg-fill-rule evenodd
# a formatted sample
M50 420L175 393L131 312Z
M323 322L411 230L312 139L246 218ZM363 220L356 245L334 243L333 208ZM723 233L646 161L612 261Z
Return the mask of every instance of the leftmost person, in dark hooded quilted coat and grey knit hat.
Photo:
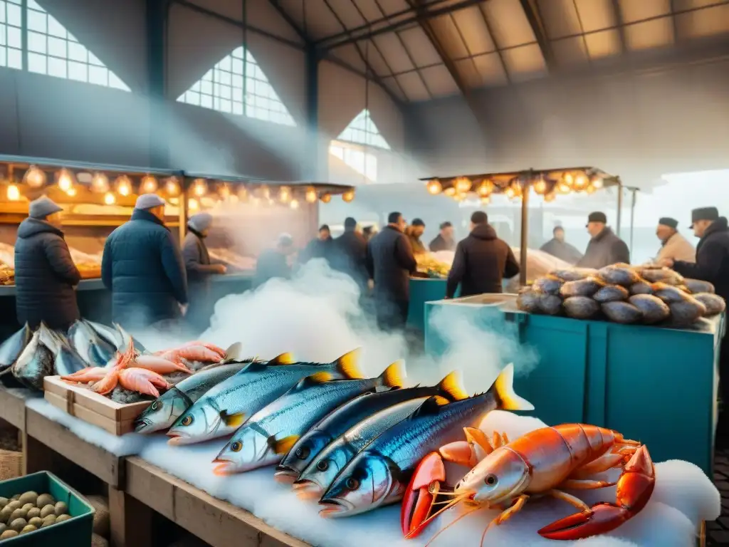
M42 196L31 201L15 241L15 311L20 325L41 322L68 330L79 319L74 287L81 274L61 230L61 209Z

